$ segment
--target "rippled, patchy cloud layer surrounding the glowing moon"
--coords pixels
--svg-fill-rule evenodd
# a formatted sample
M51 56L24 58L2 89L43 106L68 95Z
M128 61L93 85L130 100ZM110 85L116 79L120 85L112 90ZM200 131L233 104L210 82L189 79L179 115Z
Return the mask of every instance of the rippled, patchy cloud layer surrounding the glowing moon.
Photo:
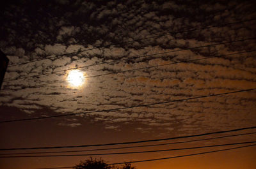
M67 2L60 1L60 3ZM88 65L89 67L80 69L86 73L87 77L114 74L85 78L84 86L80 89L70 89L67 82L61 82L36 89L1 92L4 97L0 98L0 104L19 108L27 114L36 114L42 107L51 108L52 112L49 114L79 114L99 110L99 112L80 116L81 118L92 117L94 122L102 122L106 129L120 129L122 124L136 123L143 125L143 128L136 128L140 132L162 128L170 132L193 133L198 129L206 131L212 128L227 129L255 124L256 98L253 91L115 112L100 112L100 110L111 108L132 107L255 87L256 64L253 57L255 53L227 55L255 49L254 40L184 50L253 37L252 35L255 34L252 31L255 27L253 21L236 26L173 33L234 22L234 18L252 17L251 10L243 12L244 8L252 8L248 3L235 4L230 5L236 7L236 10L223 11L222 4L205 3L198 6L202 15L195 15L195 17L191 17L193 13L198 13L193 8L195 4L188 2L178 5L173 2L158 4L127 1L123 4L109 2L99 6L94 2L84 4L77 1L77 6L72 6L76 9L75 13L63 11L61 6L56 6L54 10L57 14L61 13L61 16L50 13L54 17L38 18L37 21L31 20L26 15L27 11L21 13L18 13L19 10L13 11L13 15L22 15L27 20L17 20L16 25L23 23L36 26L38 25L36 22L41 24L40 29L27 33L23 29L9 30L7 27L13 21L3 23L4 29L9 31L6 31L5 39L1 40L0 45L8 54L10 64L44 59L46 56L52 56L52 58L10 67L5 80ZM217 10L221 12L216 14ZM207 17L202 18L205 15ZM7 13L5 17L13 20L11 14ZM170 34L159 38L131 41L163 33ZM20 38L14 43L13 37ZM122 43L123 41L131 42ZM98 48L100 45L112 43L117 45ZM64 55L79 50L84 51ZM180 51L172 52L173 50ZM170 53L159 54L163 52ZM62 54L61 57L54 57ZM207 58L211 55L226 56L180 62ZM139 56L140 58L131 59ZM102 64L102 62L112 63ZM175 62L180 63L159 66ZM98 65L90 66L92 64ZM159 67L115 73L148 66ZM51 83L56 80L65 80L67 73L68 71L61 71L40 77L4 82L3 86L20 88ZM72 121L59 125L74 127L83 124Z

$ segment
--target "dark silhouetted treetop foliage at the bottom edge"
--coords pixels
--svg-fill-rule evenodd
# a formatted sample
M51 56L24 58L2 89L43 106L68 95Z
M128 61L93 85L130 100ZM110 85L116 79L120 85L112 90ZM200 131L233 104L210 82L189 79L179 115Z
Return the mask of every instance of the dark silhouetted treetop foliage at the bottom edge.
M85 161L81 161L79 165L73 167L74 169L136 169L131 163L125 163L123 166L111 166L108 165L102 159L87 159Z

